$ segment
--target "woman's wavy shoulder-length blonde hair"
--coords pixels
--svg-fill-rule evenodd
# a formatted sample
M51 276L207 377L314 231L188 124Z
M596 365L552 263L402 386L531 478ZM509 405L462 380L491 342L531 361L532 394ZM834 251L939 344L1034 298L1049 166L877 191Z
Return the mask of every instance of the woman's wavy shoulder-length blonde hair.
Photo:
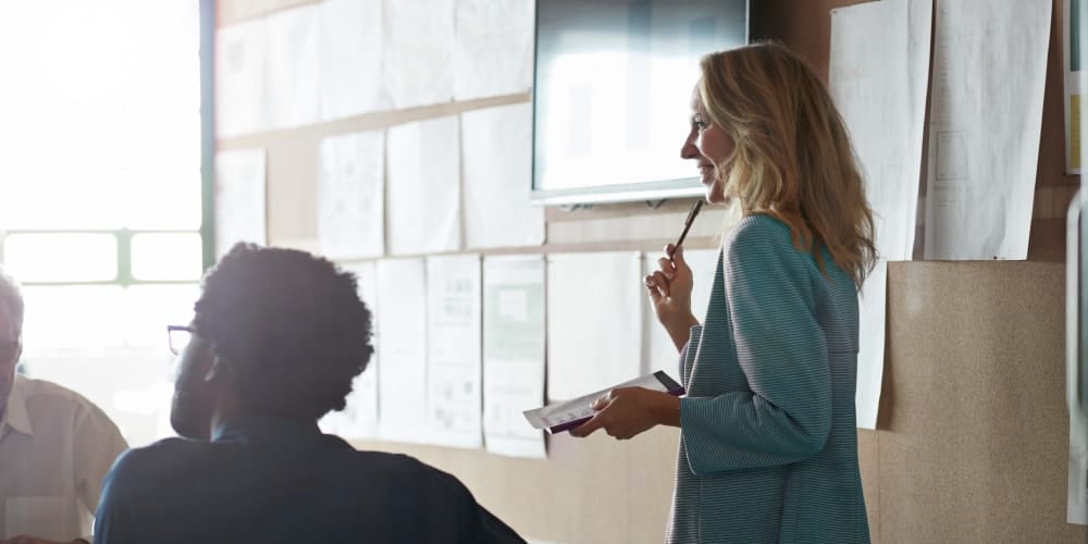
M839 111L800 57L765 42L700 62L706 116L734 144L716 164L722 194L744 214L790 226L799 250L820 247L861 288L876 263L873 211ZM826 273L826 270L824 270Z

